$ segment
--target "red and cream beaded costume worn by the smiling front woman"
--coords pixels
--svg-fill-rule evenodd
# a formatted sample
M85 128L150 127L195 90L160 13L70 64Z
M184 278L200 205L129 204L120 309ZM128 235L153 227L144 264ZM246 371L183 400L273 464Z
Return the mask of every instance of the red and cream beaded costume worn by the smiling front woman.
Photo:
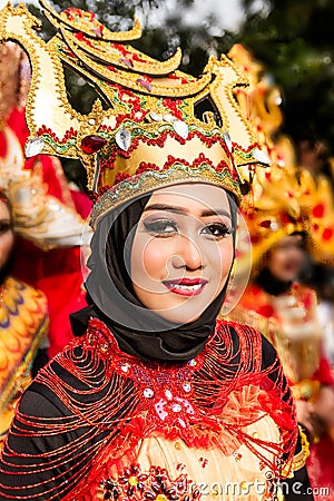
M35 418L28 411L36 393ZM57 419L42 420L49 405ZM296 438L274 350L256 331L224 321L197 357L177 365L125 354L102 322L90 321L84 338L40 371L9 443L24 448L24 430L37 434L41 453L24 469L31 487L22 499L78 501L217 492L224 500L271 500L283 468L277 458L292 459ZM55 449L42 453L42 438ZM7 449L2 461L3 481L19 455ZM43 481L48 468L57 481ZM6 493L19 498L20 488Z

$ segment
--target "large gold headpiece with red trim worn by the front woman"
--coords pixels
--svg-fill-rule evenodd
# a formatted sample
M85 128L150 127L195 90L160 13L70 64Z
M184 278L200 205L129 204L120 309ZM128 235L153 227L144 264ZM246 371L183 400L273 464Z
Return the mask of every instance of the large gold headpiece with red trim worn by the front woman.
M89 188L102 191L94 223L121 202L183 180L214 183L240 198L236 167L267 158L235 99L247 79L230 59L212 57L195 78L177 70L179 50L160 62L129 46L140 37L137 21L130 31L111 32L91 12L58 14L40 3L57 30L48 43L23 4L8 4L0 14L0 38L18 41L32 67L26 154L82 161ZM107 109L96 100L88 115L73 110L62 65L94 85Z

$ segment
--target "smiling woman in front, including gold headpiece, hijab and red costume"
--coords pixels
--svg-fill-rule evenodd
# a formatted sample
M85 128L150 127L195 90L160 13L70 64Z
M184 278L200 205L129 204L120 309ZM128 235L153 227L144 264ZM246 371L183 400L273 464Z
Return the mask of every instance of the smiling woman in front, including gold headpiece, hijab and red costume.
M57 71L66 121L31 106L41 124L31 141L84 159L101 189L90 304L72 316L73 341L20 401L1 497L273 500L298 469L285 492L312 499L275 350L257 331L217 320L240 250L236 164L258 161L232 91L245 81L227 58L196 79L176 70L178 53L160 63L92 13L45 8L63 42L45 47L31 33L33 91L47 91ZM89 75L110 108L96 102L70 122L57 58Z

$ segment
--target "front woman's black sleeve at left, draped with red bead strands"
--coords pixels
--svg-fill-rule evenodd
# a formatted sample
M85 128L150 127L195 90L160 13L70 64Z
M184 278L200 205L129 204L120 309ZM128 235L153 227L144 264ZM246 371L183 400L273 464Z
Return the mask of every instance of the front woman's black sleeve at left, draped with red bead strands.
M95 372L100 376L99 369L95 366ZM38 382L52 371L56 387L65 389L67 399L59 399L55 386L48 387ZM81 374L80 367L78 374ZM94 384L94 375L91 382ZM112 438L111 426L91 424L88 419L89 410L97 407L108 389L105 385L89 393L86 382L57 363L39 372L20 401L1 453L1 500L46 501L66 497L73 484L87 474L105 436ZM86 403L80 409L84 397ZM76 413L70 410L70 401L75 400ZM85 405L86 414L82 411ZM114 418L117 419L116 415Z

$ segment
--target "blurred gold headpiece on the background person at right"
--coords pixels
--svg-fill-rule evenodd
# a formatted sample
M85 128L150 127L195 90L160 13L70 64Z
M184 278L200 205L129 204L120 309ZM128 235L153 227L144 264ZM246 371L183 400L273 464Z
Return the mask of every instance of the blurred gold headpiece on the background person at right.
M295 232L307 235L316 261L334 259L334 205L330 184L317 183L296 165L294 145L281 132L281 94L265 76L265 68L242 45L228 56L248 76L249 86L237 99L256 130L257 143L271 159L268 169L252 173L252 189L243 198L242 210L252 239L252 261L256 268L264 254L282 237Z

